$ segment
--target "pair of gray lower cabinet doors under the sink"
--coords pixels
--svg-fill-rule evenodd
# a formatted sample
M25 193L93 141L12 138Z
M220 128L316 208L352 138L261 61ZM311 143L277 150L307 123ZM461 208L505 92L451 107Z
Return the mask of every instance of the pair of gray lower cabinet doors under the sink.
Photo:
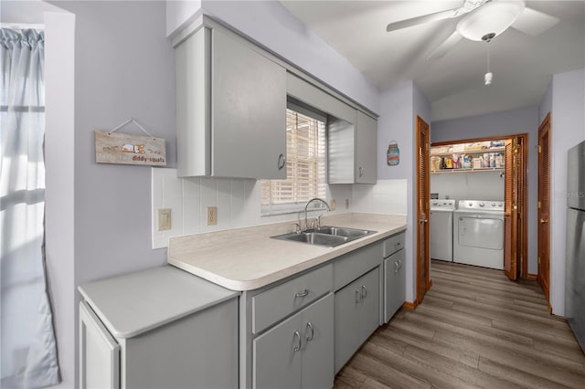
M379 324L379 268L335 292L335 373Z

